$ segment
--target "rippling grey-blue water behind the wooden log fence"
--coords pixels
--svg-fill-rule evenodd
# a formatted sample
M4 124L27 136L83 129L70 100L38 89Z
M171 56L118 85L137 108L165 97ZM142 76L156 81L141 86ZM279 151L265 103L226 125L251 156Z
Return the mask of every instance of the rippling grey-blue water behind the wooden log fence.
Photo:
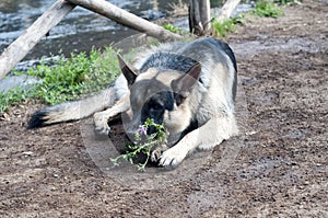
M172 10L168 3L177 3L178 0L110 0L109 2L139 16L153 20L164 16ZM0 53L54 3L55 0L1 0ZM77 7L49 32L48 36L42 38L24 60L58 54L68 56L72 51L89 51L92 47L99 48L136 33L109 19Z

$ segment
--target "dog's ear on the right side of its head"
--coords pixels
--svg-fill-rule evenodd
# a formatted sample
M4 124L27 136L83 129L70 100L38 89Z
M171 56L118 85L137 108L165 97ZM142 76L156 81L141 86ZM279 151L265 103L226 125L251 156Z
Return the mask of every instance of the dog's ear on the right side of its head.
M172 81L171 88L175 93L177 105L179 105L184 99L188 97L196 82L199 80L200 72L201 65L197 62L190 67L185 74Z

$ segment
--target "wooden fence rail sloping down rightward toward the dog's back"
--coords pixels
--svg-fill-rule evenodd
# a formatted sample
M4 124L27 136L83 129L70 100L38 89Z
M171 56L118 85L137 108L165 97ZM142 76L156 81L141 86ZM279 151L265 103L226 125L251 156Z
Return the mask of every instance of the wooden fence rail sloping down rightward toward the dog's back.
M129 13L105 0L68 0L71 3L81 5L101 15L104 15L110 20L116 21L119 24L145 33L147 35L159 38L160 41L173 41L180 39L181 36L169 31L166 31L162 26L151 23L144 19L141 19L132 13Z

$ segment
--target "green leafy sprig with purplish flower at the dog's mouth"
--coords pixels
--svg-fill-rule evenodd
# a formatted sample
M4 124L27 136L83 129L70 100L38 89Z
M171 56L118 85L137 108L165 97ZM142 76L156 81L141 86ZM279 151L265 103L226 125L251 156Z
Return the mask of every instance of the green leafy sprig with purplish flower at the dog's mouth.
M151 127L154 127L156 131L148 135L147 130ZM138 163L138 170L144 171L149 162L152 148L167 142L165 128L163 125L155 124L153 119L148 118L143 125L139 126L138 131L134 134L134 145L126 145L128 149L126 153L110 159L114 165L119 165L119 159L127 160L131 164L134 164L134 159L138 158L139 154L145 154L145 161L143 163Z

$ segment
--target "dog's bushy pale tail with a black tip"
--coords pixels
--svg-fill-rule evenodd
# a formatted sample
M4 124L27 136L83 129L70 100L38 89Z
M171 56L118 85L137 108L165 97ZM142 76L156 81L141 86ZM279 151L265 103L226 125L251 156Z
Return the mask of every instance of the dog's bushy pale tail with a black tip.
M109 107L116 100L116 91L113 87L109 87L86 99L65 102L35 112L28 122L27 128L37 128L61 122L78 121Z

